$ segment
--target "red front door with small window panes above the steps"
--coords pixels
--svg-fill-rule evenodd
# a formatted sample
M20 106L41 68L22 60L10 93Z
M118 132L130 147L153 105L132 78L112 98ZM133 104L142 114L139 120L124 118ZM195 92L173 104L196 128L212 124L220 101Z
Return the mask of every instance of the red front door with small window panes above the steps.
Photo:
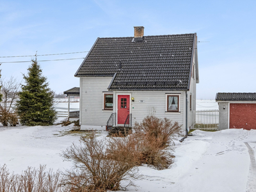
M117 124L124 124L130 114L130 95L118 95L118 117Z

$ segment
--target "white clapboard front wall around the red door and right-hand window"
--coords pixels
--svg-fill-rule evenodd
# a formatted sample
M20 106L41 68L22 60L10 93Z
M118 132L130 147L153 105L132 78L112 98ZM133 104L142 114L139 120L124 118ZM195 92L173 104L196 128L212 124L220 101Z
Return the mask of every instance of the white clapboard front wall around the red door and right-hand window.
M155 115L159 118L170 118L173 122L178 122L184 127L184 92L170 91L131 91L131 92L115 92L116 94L131 93L134 102L131 101L130 113L132 113L132 126L135 122L142 122L143 118L150 115L152 111L156 111ZM180 93L180 113L166 113L166 93ZM117 99L117 97L116 97ZM143 102L140 102L143 101Z

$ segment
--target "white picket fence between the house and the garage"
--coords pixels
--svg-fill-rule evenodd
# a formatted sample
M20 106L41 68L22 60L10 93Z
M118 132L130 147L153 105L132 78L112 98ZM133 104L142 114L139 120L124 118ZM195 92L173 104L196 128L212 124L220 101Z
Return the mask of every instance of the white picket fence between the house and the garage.
M218 130L219 110L198 110L196 111L196 124L193 129Z

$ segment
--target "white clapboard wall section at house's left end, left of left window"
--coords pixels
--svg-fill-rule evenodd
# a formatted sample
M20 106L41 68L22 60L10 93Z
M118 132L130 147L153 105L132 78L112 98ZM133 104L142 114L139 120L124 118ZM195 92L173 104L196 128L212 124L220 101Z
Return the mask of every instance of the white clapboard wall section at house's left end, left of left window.
M112 77L81 77L81 125L106 126L113 111L104 111L103 92Z

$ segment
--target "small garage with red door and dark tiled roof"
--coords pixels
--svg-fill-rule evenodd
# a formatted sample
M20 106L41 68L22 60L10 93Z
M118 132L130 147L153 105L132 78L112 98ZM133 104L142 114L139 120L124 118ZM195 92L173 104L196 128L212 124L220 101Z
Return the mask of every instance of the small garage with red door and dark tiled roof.
M256 129L256 93L217 93L219 129Z

